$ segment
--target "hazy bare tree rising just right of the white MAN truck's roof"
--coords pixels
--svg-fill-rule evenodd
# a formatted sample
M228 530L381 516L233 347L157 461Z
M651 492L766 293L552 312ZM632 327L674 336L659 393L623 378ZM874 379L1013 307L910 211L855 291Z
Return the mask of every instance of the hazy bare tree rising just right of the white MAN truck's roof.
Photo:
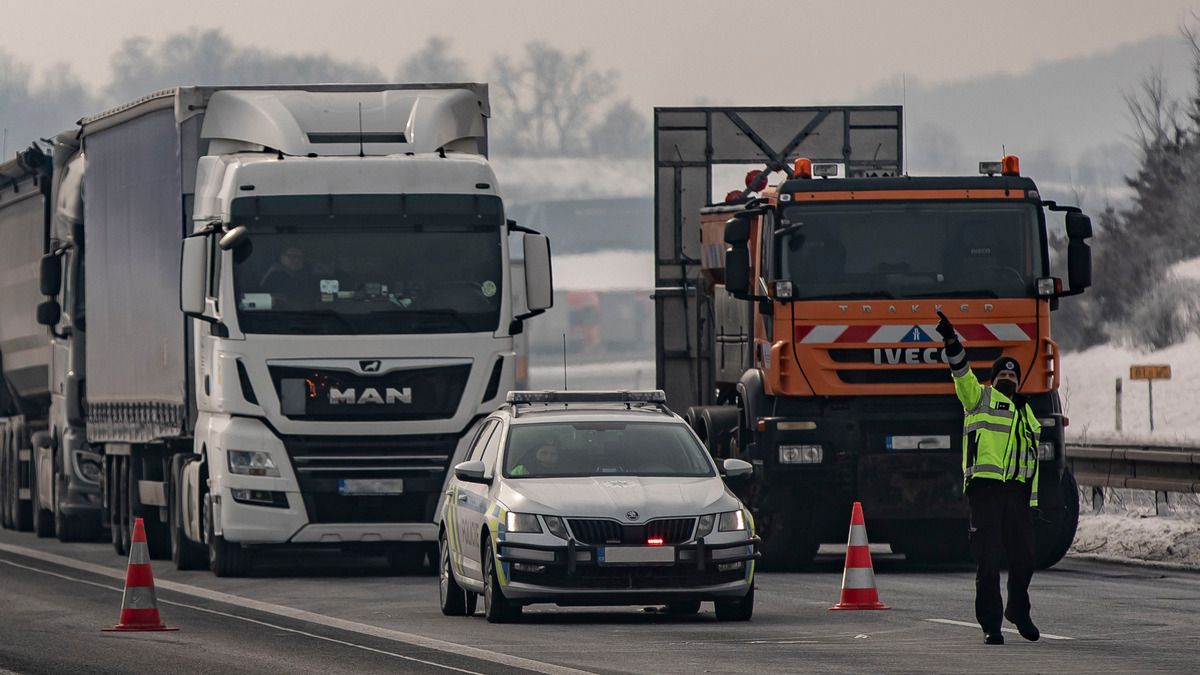
M588 125L616 91L617 73L598 72L587 50L566 54L530 42L523 60L492 61L492 83L500 147L514 154L571 155L587 149Z

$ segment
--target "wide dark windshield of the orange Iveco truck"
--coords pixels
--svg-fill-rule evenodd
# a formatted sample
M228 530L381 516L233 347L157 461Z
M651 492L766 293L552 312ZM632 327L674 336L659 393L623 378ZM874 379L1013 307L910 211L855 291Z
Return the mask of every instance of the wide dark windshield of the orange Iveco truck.
M1026 298L1046 274L1032 204L804 204L779 231L797 299Z

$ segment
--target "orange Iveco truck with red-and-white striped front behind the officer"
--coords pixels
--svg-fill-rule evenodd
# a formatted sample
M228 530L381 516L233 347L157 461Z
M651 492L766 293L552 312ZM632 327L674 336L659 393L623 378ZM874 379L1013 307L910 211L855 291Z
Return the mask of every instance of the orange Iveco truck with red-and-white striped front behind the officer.
M712 363L710 400L689 419L712 452L756 467L732 486L755 510L763 563L804 567L844 539L854 501L871 540L910 560L968 555L964 413L937 311L980 381L1001 354L1021 364L1020 394L1043 428L1038 562L1057 562L1079 502L1050 317L1091 282L1091 221L1043 199L1015 156L948 178L852 161L785 167L778 155L767 168L787 177L767 186L751 172L746 190L700 209L700 316L676 328L706 340L696 358ZM1066 211L1066 291L1050 274L1046 210ZM659 329L661 346L672 322Z

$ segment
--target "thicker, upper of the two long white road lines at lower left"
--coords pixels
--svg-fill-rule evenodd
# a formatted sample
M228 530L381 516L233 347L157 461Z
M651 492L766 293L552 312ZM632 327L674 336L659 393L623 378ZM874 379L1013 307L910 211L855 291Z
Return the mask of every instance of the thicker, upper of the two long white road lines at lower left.
M52 565L78 569L80 572L88 572L90 574L96 574L100 577L108 577L109 579L120 579L122 580L122 583L125 580L124 571L110 569L108 567L103 567L91 562L73 560L70 557L49 554L46 551L40 551L37 549L18 546L16 544L0 543L0 551L8 551L13 555L31 557L34 560L40 560L42 562L49 562ZM156 579L155 586L160 589L166 589L168 591L173 591L175 593L191 596L193 598L202 598L206 601L232 604L234 607L253 609L256 611L262 611L264 614L272 614L275 616L283 616L286 619L294 619L296 621L307 621L310 623L316 623L318 626L324 626L326 628L337 628L338 631L360 633L362 635L371 635L372 638L391 640L395 643L404 643L408 645L446 652L455 656L467 656L476 658L485 663L488 662L499 663L502 665L510 665L512 668L522 668L524 670L533 670L534 673L541 673L544 675L593 675L587 670L578 670L575 668L568 668L565 665L556 665L553 663L545 663L541 661L534 661L532 658L523 658L520 656L512 656L503 652L481 650L479 647L460 645L457 643L439 640L437 638L426 638L425 635L418 635L415 633L406 633L403 631L392 631L391 628L382 628L379 626L372 626L370 623L360 623L358 621L336 619L332 616L317 614L313 611L295 609L263 601L256 601L242 596L234 596L232 593L223 593L221 591L214 591L200 586L192 586L190 584L181 584L179 581Z

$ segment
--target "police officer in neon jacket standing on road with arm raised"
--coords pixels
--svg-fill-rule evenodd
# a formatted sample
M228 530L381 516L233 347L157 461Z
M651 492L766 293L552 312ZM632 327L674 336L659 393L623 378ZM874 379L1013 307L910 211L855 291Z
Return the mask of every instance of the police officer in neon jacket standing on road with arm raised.
M1033 579L1033 514L1038 506L1038 435L1042 425L1025 398L1016 393L1021 366L1000 357L991 366L991 384L979 384L954 324L937 312L937 333L954 376L954 392L965 411L962 420L962 490L971 504L971 552L976 557L976 620L984 643L1004 644L1003 619L1021 637L1040 634L1030 619ZM1000 595L1000 567L1007 554L1008 607Z

